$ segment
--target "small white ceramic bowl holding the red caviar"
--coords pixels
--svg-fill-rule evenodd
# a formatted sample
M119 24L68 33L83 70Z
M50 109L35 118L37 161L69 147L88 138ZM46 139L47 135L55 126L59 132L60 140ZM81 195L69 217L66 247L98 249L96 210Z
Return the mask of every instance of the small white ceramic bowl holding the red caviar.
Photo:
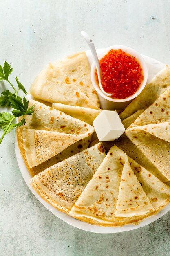
M141 93L141 91L144 89L147 79L148 79L148 68L147 68L146 62L144 61L144 58L141 56L141 54L139 54L134 49L132 49L128 46L124 46L124 45L113 45L113 46L103 49L102 53L97 54L99 60L101 58L103 58L111 49L115 49L115 50L122 49L122 51L126 52L127 54L134 56L137 59L137 61L139 62L141 68L143 69L144 80L139 85L139 88L137 89L137 91L133 95L130 95L129 97L127 97L125 99L113 99L113 98L103 94L103 92L100 90L99 85L97 84L96 79L95 79L96 66L95 66L94 62L92 63L92 65L91 65L91 81L92 81L92 84L93 84L95 90L97 91L97 93L102 98L106 99L107 101L113 102L112 103L113 109L123 109L130 103L130 101L132 101L132 99L137 97L137 95L139 95L139 93ZM121 106L121 108L120 108L120 106Z

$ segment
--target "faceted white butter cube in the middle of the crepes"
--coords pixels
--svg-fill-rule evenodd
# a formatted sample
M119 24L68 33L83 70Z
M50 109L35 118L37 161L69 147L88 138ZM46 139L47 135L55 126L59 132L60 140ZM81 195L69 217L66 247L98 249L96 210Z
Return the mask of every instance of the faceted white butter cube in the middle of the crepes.
M114 141L125 131L116 111L102 110L93 121L93 126L99 141Z

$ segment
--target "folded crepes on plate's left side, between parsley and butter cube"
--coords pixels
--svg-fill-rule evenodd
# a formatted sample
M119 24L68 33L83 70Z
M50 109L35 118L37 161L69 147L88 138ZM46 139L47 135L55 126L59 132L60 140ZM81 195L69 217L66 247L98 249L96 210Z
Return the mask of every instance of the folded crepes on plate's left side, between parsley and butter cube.
M92 122L102 110L85 52L50 63L33 82L30 94L36 100L29 101L29 107L35 105L34 113L26 115L26 125L18 128L18 144L34 176L88 148L92 134L95 139Z

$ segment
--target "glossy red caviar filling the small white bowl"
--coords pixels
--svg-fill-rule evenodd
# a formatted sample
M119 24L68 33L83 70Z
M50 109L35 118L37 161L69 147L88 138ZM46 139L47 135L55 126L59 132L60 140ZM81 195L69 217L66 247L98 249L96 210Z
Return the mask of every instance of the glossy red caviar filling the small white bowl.
M143 70L135 57L119 50L110 50L100 61L102 70L102 87L112 93L113 99L125 99L133 95L141 81ZM97 71L95 78L98 81Z

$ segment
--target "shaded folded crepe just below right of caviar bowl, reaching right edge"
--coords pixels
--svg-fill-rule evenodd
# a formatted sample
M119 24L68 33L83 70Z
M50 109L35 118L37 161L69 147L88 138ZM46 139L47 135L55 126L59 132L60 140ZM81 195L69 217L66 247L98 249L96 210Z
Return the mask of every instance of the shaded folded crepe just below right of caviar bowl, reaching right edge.
M170 67L166 66L146 85L144 90L119 115L121 120L137 110L148 108L163 92L170 87Z

